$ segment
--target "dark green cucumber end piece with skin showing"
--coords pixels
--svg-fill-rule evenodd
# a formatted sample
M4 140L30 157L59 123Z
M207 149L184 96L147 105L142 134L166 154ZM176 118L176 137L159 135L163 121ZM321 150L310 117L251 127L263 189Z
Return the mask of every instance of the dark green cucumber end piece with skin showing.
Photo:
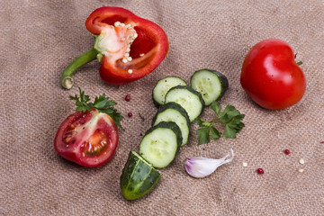
M149 193L161 178L161 174L144 159L130 151L121 174L121 193L127 200L136 200Z

